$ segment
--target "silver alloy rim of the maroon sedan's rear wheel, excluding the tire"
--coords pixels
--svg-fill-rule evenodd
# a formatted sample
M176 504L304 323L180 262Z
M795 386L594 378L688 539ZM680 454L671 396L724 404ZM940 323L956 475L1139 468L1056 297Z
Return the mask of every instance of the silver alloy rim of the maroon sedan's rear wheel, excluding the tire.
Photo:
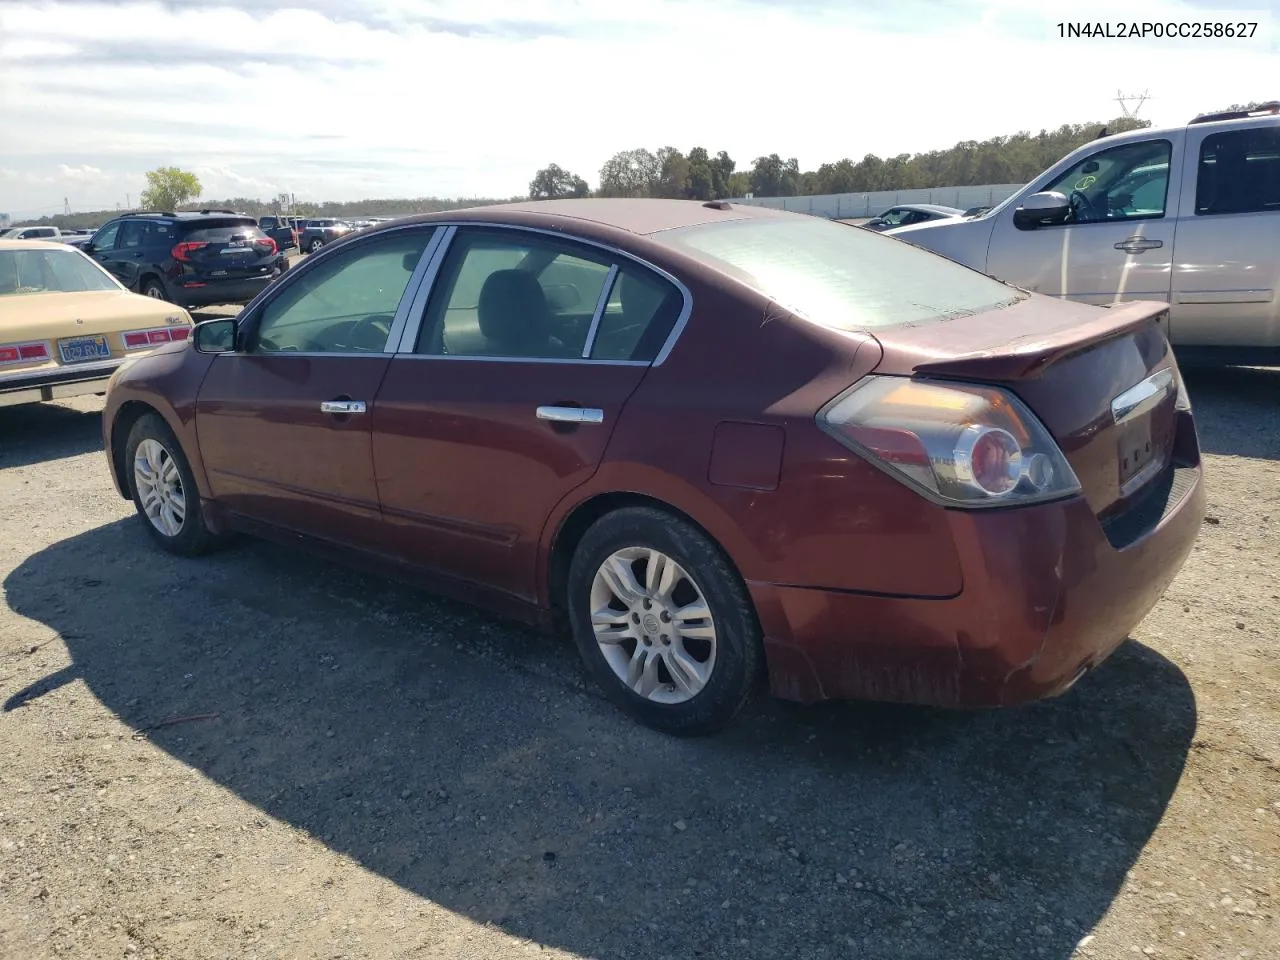
M660 704L692 699L716 668L716 622L701 589L649 547L611 554L591 581L591 628L614 675Z

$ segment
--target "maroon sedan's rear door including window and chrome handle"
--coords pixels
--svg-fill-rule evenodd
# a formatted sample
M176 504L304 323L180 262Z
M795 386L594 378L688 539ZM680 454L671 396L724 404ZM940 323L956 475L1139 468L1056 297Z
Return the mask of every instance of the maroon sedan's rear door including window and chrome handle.
M685 294L535 230L457 228L438 256L374 413L388 532L416 564L534 600L547 517L595 472Z

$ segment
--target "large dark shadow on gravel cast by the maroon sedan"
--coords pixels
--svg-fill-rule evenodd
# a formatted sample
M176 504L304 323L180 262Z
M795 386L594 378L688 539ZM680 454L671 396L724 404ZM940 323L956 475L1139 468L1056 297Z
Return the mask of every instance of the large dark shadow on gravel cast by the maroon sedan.
M333 851L584 956L1066 960L1196 730L1184 675L1130 641L1025 709L767 701L678 740L558 637L282 547L170 558L134 518L4 589L72 657L4 710L82 680Z

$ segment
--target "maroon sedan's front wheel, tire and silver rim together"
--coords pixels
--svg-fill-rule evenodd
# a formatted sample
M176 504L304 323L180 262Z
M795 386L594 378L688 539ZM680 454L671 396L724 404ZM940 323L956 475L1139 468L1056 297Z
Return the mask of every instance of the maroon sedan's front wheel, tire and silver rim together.
M129 493L143 526L160 547L196 557L216 545L205 525L191 465L159 413L138 417L124 445Z

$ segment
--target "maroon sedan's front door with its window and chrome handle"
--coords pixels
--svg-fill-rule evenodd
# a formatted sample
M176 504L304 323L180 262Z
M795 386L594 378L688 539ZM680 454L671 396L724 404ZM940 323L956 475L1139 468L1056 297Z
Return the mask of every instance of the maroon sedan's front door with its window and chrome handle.
M370 426L433 233L393 230L317 257L247 311L237 349L214 358L196 403L215 499L303 534L380 547Z

